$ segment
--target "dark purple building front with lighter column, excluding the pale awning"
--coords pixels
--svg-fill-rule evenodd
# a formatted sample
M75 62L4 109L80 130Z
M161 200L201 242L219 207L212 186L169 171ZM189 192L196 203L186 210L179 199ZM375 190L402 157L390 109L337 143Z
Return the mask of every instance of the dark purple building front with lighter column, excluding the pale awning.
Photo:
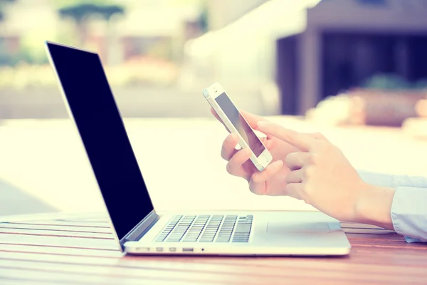
M427 1L323 0L303 33L278 40L282 111L305 113L376 74L427 78Z

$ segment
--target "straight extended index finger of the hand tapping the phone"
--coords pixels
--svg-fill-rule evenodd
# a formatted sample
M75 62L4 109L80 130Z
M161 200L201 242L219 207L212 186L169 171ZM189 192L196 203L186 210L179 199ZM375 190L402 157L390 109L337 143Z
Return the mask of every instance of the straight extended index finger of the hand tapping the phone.
M283 128L281 125L266 120L258 122L257 129L266 135L273 135L276 138L280 138L280 140L285 140L285 142L302 151L310 150L312 144L315 142L315 139L310 137L310 135L297 133L295 130Z

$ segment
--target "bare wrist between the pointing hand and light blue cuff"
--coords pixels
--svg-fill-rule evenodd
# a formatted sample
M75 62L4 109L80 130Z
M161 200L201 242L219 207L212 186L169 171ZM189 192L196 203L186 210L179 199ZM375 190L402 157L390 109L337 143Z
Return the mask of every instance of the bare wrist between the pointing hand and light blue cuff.
M354 207L354 222L394 229L391 221L391 204L395 191L394 188L364 183Z

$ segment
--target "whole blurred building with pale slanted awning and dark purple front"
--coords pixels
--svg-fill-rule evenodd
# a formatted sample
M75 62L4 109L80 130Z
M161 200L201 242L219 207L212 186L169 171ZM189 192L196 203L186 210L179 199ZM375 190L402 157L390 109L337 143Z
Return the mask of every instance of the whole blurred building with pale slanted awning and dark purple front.
M377 73L427 78L427 1L270 0L186 46L193 81L251 86L303 114ZM209 67L211 69L209 69ZM187 76L190 78L191 76Z

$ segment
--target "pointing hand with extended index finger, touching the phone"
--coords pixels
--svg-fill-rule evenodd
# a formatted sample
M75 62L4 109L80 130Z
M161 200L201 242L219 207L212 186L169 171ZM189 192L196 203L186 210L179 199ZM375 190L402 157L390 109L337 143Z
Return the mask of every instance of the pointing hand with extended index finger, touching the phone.
M338 147L322 135L297 133L267 121L258 130L296 147L285 158L290 169L285 194L344 221L357 219L357 204L369 188Z

